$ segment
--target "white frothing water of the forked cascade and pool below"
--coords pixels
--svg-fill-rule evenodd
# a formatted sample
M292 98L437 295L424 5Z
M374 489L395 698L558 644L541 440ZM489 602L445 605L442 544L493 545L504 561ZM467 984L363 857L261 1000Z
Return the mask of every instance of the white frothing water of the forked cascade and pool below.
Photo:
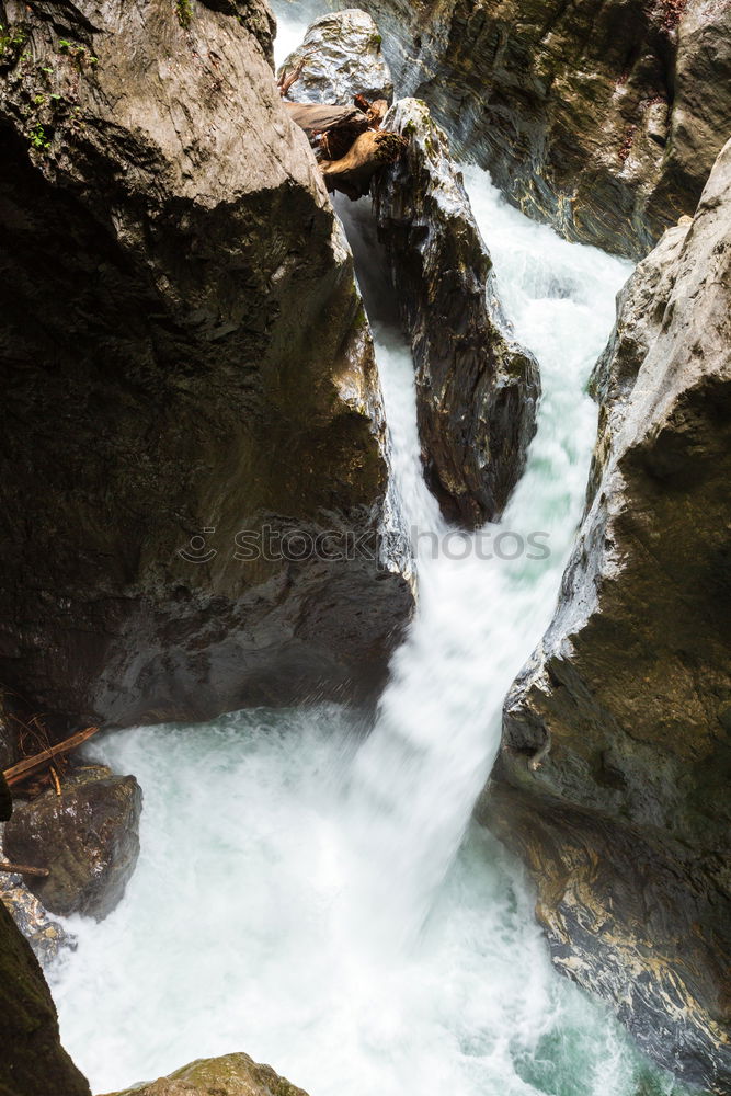
M137 775L145 811L123 903L101 925L77 920L79 950L52 972L64 1041L94 1092L232 1050L310 1096L673 1091L553 973L522 876L469 823L505 692L556 601L595 432L583 386L628 266L530 224L483 173L467 181L544 383L502 529L550 534L550 558L422 550L419 615L365 742L323 706L95 747ZM368 235L362 209L350 227ZM359 250L376 313L382 277L369 278L367 241ZM402 507L444 536L421 477L410 357L387 323L376 333Z

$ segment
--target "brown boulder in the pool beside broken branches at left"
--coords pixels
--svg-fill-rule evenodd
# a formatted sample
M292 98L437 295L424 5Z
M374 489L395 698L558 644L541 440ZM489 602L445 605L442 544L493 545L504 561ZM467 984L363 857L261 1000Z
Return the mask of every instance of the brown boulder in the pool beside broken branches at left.
M92 766L55 789L16 803L3 847L14 864L49 868L26 878L46 910L101 921L121 901L139 855L142 792L134 776Z

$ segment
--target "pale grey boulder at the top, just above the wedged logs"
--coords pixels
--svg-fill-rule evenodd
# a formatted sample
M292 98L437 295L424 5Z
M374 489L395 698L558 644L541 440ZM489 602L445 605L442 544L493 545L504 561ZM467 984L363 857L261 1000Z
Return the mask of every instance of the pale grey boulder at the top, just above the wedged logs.
M369 102L393 99L393 81L370 15L357 8L322 15L308 27L301 46L287 57L279 75L302 70L289 91L298 103L346 106L354 95Z

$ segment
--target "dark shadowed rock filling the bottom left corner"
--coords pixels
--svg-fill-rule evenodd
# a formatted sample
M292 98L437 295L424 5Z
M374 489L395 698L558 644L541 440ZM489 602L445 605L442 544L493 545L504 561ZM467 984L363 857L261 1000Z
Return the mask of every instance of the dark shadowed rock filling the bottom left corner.
M0 821L10 818L0 776ZM89 1085L61 1047L48 986L31 950L0 902L0 1096L90 1096Z

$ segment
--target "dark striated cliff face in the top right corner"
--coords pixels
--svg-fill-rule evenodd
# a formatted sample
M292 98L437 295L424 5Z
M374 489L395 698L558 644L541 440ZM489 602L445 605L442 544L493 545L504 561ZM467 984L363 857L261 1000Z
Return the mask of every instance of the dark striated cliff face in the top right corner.
M342 4L333 4L341 7ZM364 0L401 94L526 213L632 258L692 214L731 132L715 0Z

